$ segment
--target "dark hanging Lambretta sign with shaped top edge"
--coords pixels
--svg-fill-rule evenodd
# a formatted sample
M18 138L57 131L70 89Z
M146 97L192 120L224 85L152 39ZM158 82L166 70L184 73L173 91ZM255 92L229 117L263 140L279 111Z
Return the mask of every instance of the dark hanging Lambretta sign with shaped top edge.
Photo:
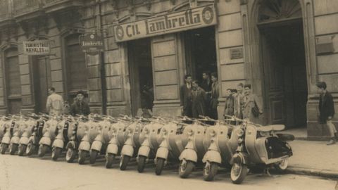
M84 34L80 37L82 51L89 54L97 54L104 51L104 39L94 33Z

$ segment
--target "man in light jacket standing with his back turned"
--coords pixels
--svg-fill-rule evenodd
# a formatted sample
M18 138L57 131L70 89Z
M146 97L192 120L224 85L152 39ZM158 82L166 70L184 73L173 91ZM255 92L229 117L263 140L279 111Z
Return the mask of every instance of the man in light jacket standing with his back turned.
M49 96L46 102L46 110L49 115L61 115L63 113L63 98L61 95L56 94L55 88L51 87Z

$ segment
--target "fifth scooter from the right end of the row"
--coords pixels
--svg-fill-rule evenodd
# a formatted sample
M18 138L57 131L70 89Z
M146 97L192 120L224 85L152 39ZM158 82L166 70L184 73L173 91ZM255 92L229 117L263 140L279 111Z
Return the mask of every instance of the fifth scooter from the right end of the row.
M146 163L149 158L154 158L158 146L161 143L161 128L163 127L163 120L160 118L156 120L150 120L149 124L146 124L142 129L144 134L144 141L142 142L139 152L137 153L137 171L143 172Z

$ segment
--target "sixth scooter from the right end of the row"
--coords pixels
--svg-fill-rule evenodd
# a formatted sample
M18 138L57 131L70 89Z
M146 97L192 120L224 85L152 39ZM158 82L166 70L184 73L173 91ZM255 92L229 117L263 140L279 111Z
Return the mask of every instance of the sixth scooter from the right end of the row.
M139 147L141 146L141 142L144 141L144 134L142 134L141 130L144 127L144 122L142 122L142 118L135 120L132 124L127 127L127 140L123 145L120 156L120 170L127 169L127 165L130 161L130 158L136 156Z

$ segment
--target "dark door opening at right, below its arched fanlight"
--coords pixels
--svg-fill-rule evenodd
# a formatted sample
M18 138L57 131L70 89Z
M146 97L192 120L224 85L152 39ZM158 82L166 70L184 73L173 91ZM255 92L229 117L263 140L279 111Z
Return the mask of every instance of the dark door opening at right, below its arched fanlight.
M270 123L306 127L308 95L301 19L260 27L265 108Z

